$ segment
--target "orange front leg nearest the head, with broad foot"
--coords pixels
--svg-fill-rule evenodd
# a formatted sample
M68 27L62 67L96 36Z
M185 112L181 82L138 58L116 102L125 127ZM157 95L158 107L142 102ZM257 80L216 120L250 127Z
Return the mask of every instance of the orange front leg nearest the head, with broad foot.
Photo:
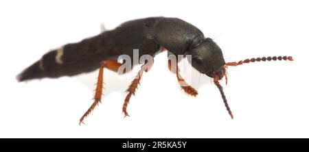
M175 62L176 63L176 62ZM173 69L176 68L176 71L174 71ZM196 95L198 94L198 92L192 87L192 86L189 86L186 82L185 82L185 79L183 79L183 77L181 77L181 75L179 74L179 66L177 64L175 65L172 65L172 61L171 60L168 60L168 68L170 69L170 71L172 73L176 73L176 77L177 77L177 80L179 82L179 85L181 86L181 88L187 93L187 94L190 94L194 97L196 97Z

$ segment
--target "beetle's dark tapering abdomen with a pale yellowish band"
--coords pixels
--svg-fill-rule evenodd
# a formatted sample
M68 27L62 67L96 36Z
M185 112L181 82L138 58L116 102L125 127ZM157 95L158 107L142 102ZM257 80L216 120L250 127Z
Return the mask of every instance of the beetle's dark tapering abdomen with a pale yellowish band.
M113 55L108 47L108 37L113 31L106 31L98 36L81 42L71 43L49 51L17 76L19 81L40 79L43 77L72 76L94 71L100 67L100 61Z

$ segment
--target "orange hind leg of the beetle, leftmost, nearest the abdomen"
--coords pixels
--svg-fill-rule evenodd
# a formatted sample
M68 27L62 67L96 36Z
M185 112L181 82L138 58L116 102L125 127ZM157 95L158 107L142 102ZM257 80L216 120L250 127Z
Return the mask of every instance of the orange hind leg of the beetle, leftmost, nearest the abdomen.
M122 64L118 63L115 60L105 60L102 61L100 63L100 71L99 71L99 76L98 76L98 83L97 83L97 88L95 89L95 97L94 102L92 103L92 105L89 107L89 109L87 110L86 113L84 113L84 115L82 115L82 118L80 118L80 124L84 123L84 118L86 118L93 110L94 108L101 102L101 98L102 98L102 89L103 89L103 68L108 68L111 71L117 72L118 68L121 66ZM124 69L124 73L125 73L125 69Z

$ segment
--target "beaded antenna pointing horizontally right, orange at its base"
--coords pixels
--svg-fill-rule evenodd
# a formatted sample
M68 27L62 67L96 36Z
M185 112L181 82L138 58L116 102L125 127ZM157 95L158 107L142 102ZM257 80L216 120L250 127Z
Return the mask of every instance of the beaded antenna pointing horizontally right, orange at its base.
M276 60L288 60L288 61L293 61L293 58L291 56L268 56L268 57L262 57L262 58L251 58L251 59L246 59L246 60L240 60L239 62L228 62L225 64L225 66L238 66L244 63L250 63L250 62L260 62L260 61L276 61Z

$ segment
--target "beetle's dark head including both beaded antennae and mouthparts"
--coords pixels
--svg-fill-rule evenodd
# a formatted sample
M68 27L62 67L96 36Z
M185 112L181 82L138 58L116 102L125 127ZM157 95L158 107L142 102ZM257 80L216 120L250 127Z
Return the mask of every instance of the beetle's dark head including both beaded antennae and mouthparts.
M220 47L218 47L218 45L216 45L216 43L211 40L211 38L205 38L201 40L201 42L197 42L197 45L194 45L194 47L188 51L188 54L192 55L192 66L196 68L197 71L214 78L214 84L216 84L217 88L219 89L223 102L225 103L225 107L227 108L227 112L229 112L231 118L233 118L233 114L229 108L229 105L227 104L227 99L225 97L225 93L223 92L223 88L219 83L219 80L222 79L222 77L225 77L227 84L227 75L225 69L227 66L238 66L250 62L261 61L293 61L292 56L269 56L267 58L251 58L240 60L239 62L225 63Z

